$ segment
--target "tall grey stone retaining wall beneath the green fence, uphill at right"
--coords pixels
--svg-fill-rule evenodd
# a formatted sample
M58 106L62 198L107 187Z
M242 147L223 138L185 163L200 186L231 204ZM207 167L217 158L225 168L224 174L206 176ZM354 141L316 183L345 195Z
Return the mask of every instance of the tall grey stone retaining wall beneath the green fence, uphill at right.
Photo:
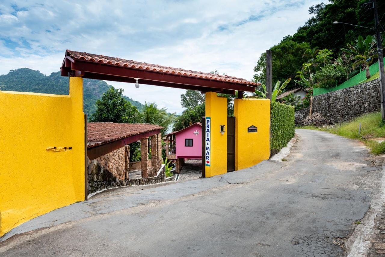
M336 123L380 109L380 79L313 96L312 113L320 113Z

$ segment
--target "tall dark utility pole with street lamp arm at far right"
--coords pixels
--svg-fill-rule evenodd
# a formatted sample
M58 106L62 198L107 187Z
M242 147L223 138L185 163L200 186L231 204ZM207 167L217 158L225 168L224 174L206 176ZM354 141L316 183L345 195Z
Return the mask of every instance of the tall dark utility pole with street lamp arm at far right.
M385 119L385 72L384 72L384 59L382 54L382 44L381 44L381 32L380 32L380 25L378 24L378 13L377 13L377 3L376 0L373 0L373 8L374 8L374 19L375 19L375 31L376 31L376 37L377 37L377 52L378 52L378 67L380 70L380 91L381 91L381 115L382 120ZM354 25L349 24L345 22L333 22L333 25L337 24L347 24L352 25L356 27L362 27L366 29L372 29L368 27L363 27L360 25ZM373 29L372 29L373 30Z

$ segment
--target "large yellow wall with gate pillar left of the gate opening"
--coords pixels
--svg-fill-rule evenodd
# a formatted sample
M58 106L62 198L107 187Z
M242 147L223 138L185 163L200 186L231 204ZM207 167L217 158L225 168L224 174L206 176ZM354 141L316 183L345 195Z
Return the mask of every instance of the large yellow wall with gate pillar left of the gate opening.
M84 147L82 78L69 96L0 91L0 236L84 200Z

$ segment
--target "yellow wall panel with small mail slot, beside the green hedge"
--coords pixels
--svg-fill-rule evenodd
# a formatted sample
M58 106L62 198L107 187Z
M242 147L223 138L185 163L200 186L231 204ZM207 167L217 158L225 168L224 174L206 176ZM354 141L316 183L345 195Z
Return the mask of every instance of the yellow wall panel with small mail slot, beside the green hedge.
M251 167L270 156L270 100L235 99L235 170ZM256 126L258 132L248 133Z

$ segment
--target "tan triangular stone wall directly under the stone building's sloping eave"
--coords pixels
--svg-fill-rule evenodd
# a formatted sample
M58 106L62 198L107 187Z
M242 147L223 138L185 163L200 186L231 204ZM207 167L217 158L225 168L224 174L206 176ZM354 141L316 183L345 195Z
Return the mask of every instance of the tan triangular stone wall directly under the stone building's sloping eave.
M123 146L115 151L107 153L106 155L100 156L95 160L104 166L104 168L107 168L118 179L124 180L125 151L126 147Z

